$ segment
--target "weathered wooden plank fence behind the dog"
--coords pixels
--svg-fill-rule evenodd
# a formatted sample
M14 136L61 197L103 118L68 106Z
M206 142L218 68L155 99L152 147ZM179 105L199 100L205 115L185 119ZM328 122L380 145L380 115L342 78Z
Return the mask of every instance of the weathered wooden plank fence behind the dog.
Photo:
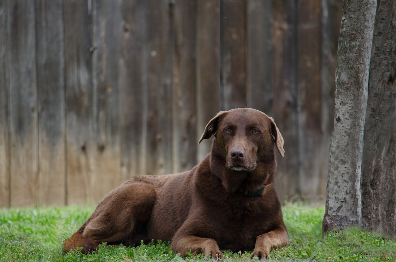
M0 0L0 206L95 204L188 170L206 123L240 106L284 136L280 198L320 199L340 2Z

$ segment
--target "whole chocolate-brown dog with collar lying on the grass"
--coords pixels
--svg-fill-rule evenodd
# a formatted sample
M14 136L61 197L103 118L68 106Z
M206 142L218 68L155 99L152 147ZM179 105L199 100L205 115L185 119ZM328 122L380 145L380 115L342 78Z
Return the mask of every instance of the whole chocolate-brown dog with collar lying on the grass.
M220 112L199 142L212 135L210 154L190 171L133 177L110 192L65 241L65 252L161 239L182 256L222 258L220 249L254 248L252 257L265 259L287 245L272 186L274 145L283 156L283 138L272 118L251 108Z

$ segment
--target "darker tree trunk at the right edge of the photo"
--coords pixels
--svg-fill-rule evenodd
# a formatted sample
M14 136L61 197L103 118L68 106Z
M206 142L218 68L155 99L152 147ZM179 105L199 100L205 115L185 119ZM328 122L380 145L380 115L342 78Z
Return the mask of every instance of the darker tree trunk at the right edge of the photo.
M362 163L362 226L396 237L396 9L379 2Z

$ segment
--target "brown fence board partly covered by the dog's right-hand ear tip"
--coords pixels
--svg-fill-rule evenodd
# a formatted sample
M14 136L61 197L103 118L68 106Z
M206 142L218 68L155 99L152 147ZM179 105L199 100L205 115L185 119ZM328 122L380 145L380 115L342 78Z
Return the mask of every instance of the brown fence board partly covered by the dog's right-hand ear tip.
M278 168L275 186L280 201L298 193L299 147L297 132L297 6L295 1L273 4L273 83L274 119L285 144L285 156L276 154Z

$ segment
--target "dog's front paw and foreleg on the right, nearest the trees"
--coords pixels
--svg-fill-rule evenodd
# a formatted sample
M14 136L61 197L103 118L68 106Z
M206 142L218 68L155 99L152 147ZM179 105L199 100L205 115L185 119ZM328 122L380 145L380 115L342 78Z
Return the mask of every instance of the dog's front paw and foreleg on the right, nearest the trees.
M289 236L284 226L280 226L268 233L259 235L256 239L256 245L253 250L251 258L257 256L259 260L265 260L271 249L277 249L287 246L289 243Z

